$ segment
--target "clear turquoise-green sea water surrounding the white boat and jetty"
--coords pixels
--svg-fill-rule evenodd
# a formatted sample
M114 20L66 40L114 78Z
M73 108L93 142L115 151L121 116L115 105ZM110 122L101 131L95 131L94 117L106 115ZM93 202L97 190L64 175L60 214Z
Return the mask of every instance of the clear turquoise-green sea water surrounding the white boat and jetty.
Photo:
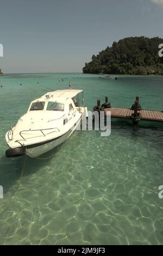
M54 89L83 89L90 110L108 95L112 106L162 110L163 77L85 74L19 74L0 78L0 185L4 199L15 190L24 157L4 156L5 132L30 101ZM61 79L64 78L62 82ZM59 82L60 81L60 82ZM37 83L39 82L39 83ZM20 86L22 84L22 86ZM1 245L163 244L163 125L114 120L111 135L76 131L59 148L27 157L14 196L0 212Z

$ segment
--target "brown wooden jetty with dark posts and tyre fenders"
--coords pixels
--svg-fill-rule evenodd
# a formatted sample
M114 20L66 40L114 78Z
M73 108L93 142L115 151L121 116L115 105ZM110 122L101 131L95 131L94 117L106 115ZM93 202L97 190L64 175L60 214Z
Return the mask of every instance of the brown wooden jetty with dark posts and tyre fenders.
M93 108L93 111L105 111L105 115L107 112L111 112L111 118L123 118L123 119L132 119L133 123L137 123L140 120L147 121L163 121L163 112L142 109L139 104L139 96L136 96L136 101L132 105L131 108L120 108L120 107L111 107L110 102L108 102L108 97L105 96L105 103L101 106L99 100L97 100L97 107Z

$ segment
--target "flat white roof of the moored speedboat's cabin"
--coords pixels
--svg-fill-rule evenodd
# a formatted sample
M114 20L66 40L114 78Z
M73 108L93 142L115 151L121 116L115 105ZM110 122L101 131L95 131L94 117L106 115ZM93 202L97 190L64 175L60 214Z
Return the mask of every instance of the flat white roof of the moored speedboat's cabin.
M45 95L43 95L42 97L46 97L46 95L48 95L49 97L74 97L79 93L82 93L83 90L74 90L74 89L67 89L67 90L54 90L54 92L49 92L46 93ZM42 98L41 97L41 98Z

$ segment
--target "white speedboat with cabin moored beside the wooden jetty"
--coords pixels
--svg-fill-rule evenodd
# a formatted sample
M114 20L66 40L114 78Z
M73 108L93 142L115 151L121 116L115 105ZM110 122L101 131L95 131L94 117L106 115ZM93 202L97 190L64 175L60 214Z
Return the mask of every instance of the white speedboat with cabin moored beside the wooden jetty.
M80 101L82 100L82 104ZM26 114L5 135L7 157L38 157L71 136L85 113L83 90L55 90L30 103Z

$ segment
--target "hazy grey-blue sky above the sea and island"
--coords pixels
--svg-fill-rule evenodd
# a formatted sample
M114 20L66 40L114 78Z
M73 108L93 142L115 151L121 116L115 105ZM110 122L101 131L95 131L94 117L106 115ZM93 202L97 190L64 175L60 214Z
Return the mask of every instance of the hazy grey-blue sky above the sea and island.
M163 0L0 0L5 73L82 72L128 36L163 38Z

